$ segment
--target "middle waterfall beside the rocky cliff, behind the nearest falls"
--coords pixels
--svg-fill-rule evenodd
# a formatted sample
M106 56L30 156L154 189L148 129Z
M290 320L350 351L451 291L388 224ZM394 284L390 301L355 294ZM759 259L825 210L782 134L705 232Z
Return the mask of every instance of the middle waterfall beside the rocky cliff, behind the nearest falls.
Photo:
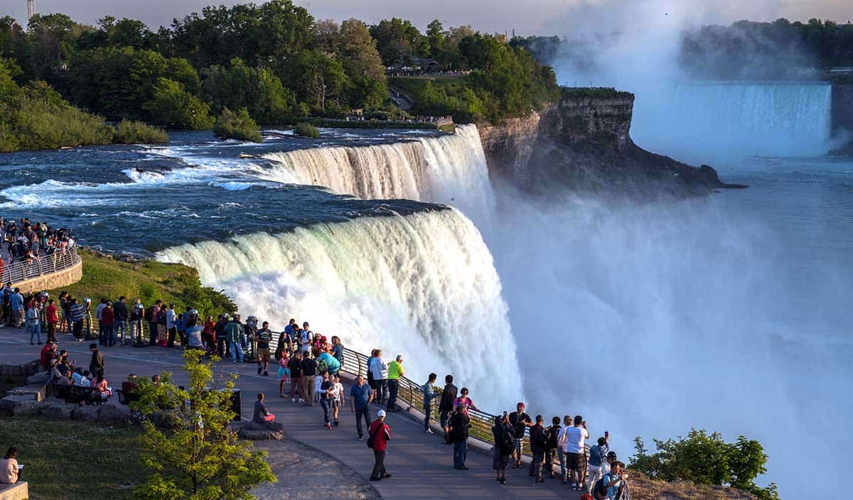
M407 198L484 217L494 207L476 125L456 134L364 147L316 147L264 155L268 181L314 184L366 199Z

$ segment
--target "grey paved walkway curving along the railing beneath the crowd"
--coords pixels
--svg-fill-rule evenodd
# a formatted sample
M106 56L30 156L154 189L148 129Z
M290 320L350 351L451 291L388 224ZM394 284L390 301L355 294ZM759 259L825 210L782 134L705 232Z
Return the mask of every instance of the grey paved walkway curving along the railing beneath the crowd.
M59 348L66 349L78 365L88 366L90 342L71 342L59 334ZM29 361L38 358L38 347L29 345L29 336L23 330L0 329L0 362ZM180 370L180 349L161 348L102 348L105 358L106 378L113 387L119 386L129 373L150 376L160 371L173 371L174 380L185 382ZM276 422L285 424L287 435L304 445L319 449L337 458L367 480L373 468L373 452L365 441L358 441L355 420L348 405L340 413L340 427L327 430L322 426L322 409L319 405L309 408L293 404L290 399L278 397L278 382L274 372L270 376L258 376L253 364L220 362L223 372L240 374L237 387L242 390L242 417L252 417L252 404L256 394L267 394L270 411L276 414ZM348 390L348 388L347 388ZM378 408L374 407L373 417ZM548 479L544 484L535 484L527 476L527 470L509 469L506 485L495 482L491 468L491 455L473 448L468 451L467 466L470 470L460 471L453 466L452 446L444 445L438 435L424 434L421 423L405 412L390 413L386 422L392 428L393 439L388 444L386 468L392 478L371 483L386 499L434 500L438 498L579 498L558 479ZM275 444L273 444L275 445ZM287 445L282 442L282 445Z

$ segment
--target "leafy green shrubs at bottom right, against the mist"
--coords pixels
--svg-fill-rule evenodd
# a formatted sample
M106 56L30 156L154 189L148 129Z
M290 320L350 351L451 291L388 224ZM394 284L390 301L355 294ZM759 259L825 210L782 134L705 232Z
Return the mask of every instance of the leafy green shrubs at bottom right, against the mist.
M687 438L654 440L654 444L657 451L650 455L641 438L635 438L629 467L657 480L730 485L762 500L779 498L775 484L764 488L755 484L755 478L767 472L767 455L756 440L740 436L736 442L726 443L722 434L693 428Z

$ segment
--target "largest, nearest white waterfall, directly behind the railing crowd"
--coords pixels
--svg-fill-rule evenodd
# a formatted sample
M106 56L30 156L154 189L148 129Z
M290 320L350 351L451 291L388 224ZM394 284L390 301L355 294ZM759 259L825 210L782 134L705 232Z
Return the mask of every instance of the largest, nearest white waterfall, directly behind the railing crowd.
M403 353L418 381L452 373L485 407L507 407L521 394L500 280L479 231L457 210L184 244L157 258L195 267L244 316L279 329L306 319L357 351Z

